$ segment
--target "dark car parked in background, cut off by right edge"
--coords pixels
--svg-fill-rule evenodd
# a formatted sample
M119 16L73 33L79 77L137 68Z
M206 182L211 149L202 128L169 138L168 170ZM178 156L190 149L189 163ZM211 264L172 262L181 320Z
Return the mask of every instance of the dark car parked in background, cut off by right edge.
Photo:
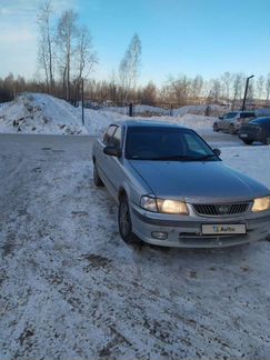
M241 126L238 132L239 138L247 144L259 141L270 143L270 117L258 118Z

